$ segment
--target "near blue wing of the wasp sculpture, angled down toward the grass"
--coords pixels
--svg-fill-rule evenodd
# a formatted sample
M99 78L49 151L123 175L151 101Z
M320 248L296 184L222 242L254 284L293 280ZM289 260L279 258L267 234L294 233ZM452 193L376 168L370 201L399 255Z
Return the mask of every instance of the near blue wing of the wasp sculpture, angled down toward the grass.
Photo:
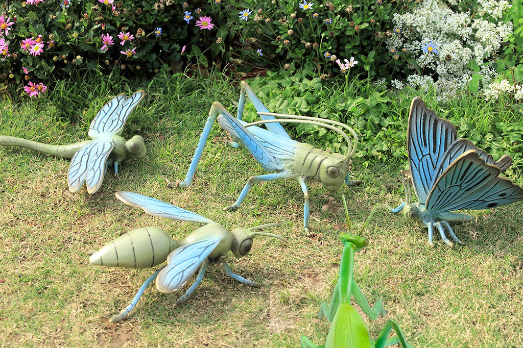
M156 277L158 290L162 293L172 293L183 286L222 239L223 235L212 234L206 239L171 251L167 257L167 266Z

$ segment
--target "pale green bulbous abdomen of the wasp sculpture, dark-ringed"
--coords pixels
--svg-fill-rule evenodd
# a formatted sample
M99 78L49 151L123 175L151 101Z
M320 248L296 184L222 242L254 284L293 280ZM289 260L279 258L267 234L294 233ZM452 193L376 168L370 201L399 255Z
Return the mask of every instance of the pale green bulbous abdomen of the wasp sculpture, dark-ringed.
M165 262L177 247L179 243L163 229L141 227L107 243L89 262L107 267L150 268Z

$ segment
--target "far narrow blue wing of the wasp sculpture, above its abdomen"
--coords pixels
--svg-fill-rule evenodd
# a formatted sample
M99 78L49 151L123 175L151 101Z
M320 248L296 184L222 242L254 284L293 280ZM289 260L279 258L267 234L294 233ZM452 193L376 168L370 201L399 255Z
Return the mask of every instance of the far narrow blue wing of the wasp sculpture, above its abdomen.
M134 192L118 191L116 193L116 198L118 198L123 203L142 208L146 213L154 216L201 224L208 224L213 222L211 219L196 213L189 212L188 210L182 209L175 205L158 201L154 198Z

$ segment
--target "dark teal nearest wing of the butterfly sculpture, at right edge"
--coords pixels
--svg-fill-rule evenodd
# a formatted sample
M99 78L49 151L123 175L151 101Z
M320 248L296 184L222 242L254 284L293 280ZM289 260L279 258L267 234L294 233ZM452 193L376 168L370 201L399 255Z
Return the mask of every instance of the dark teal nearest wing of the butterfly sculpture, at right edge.
M427 199L431 213L487 209L523 200L523 189L498 177L499 168L468 150L454 160L434 184Z

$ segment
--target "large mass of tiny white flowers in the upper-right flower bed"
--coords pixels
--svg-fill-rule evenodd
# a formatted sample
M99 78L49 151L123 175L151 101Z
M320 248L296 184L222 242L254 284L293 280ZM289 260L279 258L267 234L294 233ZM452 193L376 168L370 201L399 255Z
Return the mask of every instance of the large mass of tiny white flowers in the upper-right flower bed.
M466 86L474 73L469 63L475 62L483 76L483 86L495 78L494 55L513 32L511 22L498 19L509 4L506 0L479 0L484 12L471 16L468 12L454 12L441 0L422 0L410 13L394 14L394 33L387 40L387 48L401 56L402 49L414 54L419 66L409 66L417 75L407 78L408 86L435 88L440 98L448 98ZM447 3L450 3L447 1ZM434 51L424 52L423 45L432 42ZM437 52L437 53L436 53ZM436 72L437 82L426 78ZM436 77L435 76L433 77ZM423 85L426 84L426 85ZM395 87L401 86L399 83Z

